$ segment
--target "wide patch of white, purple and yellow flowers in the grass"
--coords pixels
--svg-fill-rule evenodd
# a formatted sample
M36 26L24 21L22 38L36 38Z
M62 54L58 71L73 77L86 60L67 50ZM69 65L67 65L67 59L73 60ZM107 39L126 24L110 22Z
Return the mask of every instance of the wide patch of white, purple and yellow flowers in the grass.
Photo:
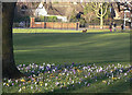
M55 64L55 63L30 63L19 64L18 69L29 78L18 80L3 79L3 90L18 86L14 93L54 92L55 90L70 90L76 86L90 87L94 83L101 81L105 85L111 85L123 79L125 82L132 73L131 64Z

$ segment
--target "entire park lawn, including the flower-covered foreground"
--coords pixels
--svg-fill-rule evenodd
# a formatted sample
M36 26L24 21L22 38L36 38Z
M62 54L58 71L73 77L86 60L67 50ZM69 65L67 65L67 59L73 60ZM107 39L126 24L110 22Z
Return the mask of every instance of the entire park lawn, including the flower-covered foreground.
M130 93L130 33L43 31L14 29L15 63L31 78L4 79L3 92Z

